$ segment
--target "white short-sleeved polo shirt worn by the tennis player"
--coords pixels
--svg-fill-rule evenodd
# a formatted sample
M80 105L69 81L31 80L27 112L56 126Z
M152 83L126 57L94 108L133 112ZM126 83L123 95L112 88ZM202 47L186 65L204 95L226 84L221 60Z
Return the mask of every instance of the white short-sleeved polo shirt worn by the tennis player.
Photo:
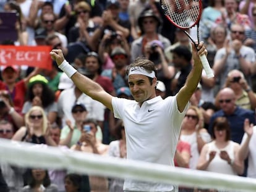
M160 96L143 102L112 99L114 117L122 119L126 130L127 159L174 166L174 154L187 107L177 109L176 96ZM172 185L126 180L127 191L171 191Z

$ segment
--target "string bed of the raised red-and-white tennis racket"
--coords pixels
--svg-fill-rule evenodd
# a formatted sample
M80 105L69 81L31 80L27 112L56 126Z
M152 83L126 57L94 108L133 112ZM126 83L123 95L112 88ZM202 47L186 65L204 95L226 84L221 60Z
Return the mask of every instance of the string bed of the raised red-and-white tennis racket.
M164 14L183 28L193 27L200 14L198 0L162 0L161 6Z

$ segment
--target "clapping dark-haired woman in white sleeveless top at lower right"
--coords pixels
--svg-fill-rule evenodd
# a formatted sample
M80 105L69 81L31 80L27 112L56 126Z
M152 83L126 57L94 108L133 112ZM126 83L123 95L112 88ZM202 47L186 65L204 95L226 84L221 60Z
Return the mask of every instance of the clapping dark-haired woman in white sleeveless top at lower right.
M213 141L203 146L197 169L238 175L244 172L244 163L237 154L240 145L231 141L231 128L226 117L213 122Z

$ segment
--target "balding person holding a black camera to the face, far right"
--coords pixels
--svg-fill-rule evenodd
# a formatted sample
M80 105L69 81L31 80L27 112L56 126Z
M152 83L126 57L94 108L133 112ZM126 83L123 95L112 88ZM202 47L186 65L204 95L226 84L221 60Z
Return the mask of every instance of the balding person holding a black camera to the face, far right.
M256 108L256 96L254 91L250 88L247 81L244 78L244 73L234 69L228 73L225 87L231 88L236 95L236 104L244 109L250 109L252 111ZM218 96L217 96L218 98ZM215 105L220 106L218 99L216 99Z

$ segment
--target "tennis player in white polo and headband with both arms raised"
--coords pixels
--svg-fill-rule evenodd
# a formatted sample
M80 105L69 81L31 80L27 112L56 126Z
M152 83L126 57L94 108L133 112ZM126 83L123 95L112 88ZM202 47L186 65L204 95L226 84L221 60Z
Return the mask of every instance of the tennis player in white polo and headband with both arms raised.
M189 99L197 88L202 73L198 55L207 54L203 43L193 46L194 65L185 85L175 96L162 99L156 96L157 70L153 62L137 59L127 68L130 93L134 100L116 98L100 85L75 70L64 59L62 51L50 54L59 68L75 85L91 98L102 102L122 119L126 130L127 159L174 166L174 154L181 130L181 122L189 106ZM176 186L126 179L124 191L177 191Z

